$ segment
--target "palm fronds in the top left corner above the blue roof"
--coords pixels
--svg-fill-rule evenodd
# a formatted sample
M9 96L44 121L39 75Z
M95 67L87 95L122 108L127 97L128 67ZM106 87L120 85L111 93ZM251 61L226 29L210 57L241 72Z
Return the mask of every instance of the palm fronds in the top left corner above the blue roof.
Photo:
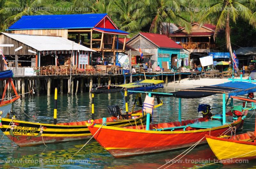
M43 0L7 0L1 15L8 15L4 25L8 27L19 20L24 15L45 15L50 14L45 7Z

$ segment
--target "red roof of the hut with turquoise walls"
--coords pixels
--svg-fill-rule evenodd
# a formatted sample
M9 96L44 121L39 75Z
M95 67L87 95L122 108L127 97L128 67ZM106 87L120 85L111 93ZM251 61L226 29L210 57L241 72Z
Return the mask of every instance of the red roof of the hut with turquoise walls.
M144 33L140 32L140 35L154 43L158 47L162 48L177 48L183 49L182 46L174 42L172 39L168 38L166 35L160 35L156 33Z

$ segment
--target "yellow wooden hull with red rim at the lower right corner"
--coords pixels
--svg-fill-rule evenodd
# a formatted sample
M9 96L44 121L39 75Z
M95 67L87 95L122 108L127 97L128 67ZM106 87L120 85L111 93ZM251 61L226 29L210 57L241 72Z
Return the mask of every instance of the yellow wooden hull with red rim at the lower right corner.
M240 136L245 134L240 134ZM213 137L209 135L205 135L205 137L213 153L223 164L238 163L239 160L242 159L256 158L255 142Z

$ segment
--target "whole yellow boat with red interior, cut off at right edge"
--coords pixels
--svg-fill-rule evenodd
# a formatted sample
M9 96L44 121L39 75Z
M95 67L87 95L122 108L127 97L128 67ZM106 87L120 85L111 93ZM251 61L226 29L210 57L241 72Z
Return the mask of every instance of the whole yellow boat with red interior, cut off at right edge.
M254 102L256 100L231 96L231 98L239 99L242 101L252 102L252 107L250 108L239 108L234 109L236 114L243 113L246 110L256 109ZM234 129L234 131L236 131ZM230 164L237 163L241 160L256 159L256 124L254 131L247 131L247 133L236 134L235 132L231 133L232 135L222 135L220 137L214 137L205 135L206 140L212 149L215 156L220 160L220 163Z

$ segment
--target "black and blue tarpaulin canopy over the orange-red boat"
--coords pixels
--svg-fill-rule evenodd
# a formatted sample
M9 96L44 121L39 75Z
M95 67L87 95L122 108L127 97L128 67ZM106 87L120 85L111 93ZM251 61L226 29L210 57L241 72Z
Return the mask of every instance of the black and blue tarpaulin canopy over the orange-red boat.
M215 94L227 93L228 96L245 95L251 92L256 92L256 84L242 81L230 81L213 86L203 86L198 88L181 89L177 92L172 92L173 95L153 94L165 97L178 97L178 98L202 98Z

